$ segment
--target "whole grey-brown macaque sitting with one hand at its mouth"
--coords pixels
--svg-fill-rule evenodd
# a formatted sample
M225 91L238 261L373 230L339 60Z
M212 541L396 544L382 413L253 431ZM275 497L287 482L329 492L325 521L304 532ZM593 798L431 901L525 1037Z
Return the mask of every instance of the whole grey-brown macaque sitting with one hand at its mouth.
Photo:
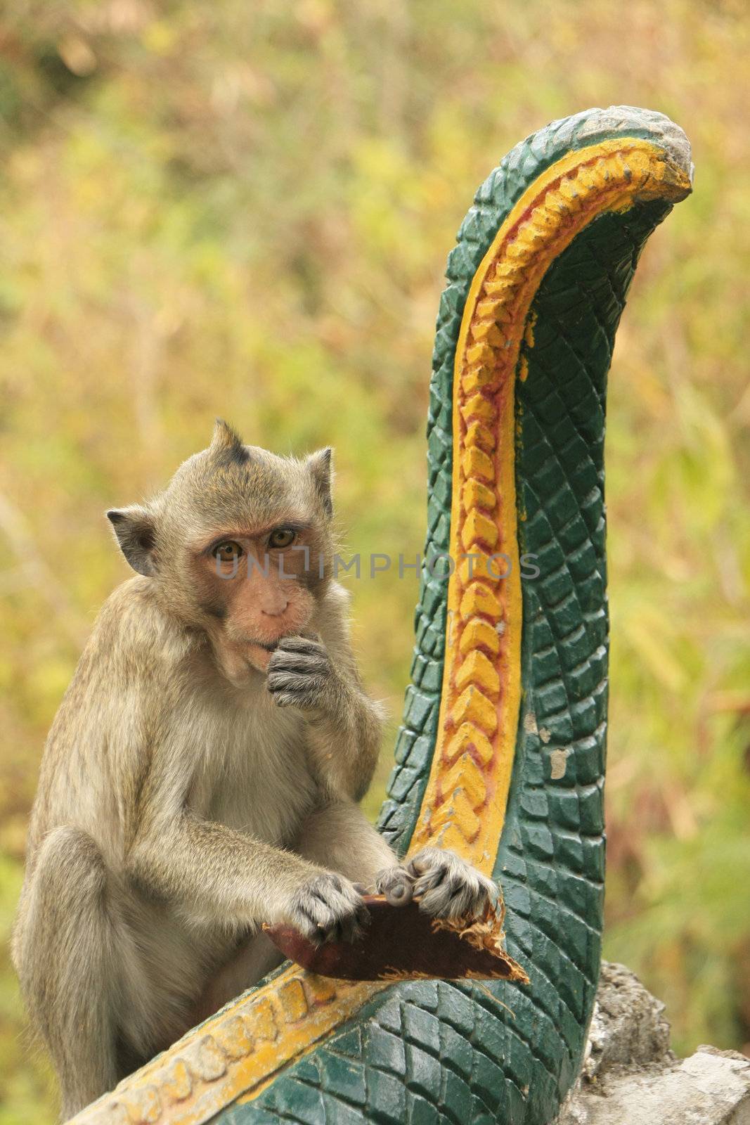
M361 890L482 911L434 848L399 866L358 807L380 713L333 580L331 450L210 447L107 513L106 602L42 762L13 962L69 1117L279 963L263 922L367 924Z

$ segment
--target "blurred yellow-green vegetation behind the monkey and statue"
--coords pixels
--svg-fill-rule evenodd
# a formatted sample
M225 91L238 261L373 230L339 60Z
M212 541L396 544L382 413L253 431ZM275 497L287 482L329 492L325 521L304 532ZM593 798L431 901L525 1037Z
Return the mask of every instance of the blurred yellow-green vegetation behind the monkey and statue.
M687 130L611 379L606 955L680 1052L750 1052L750 47L741 0L15 0L0 10L0 926L39 755L126 577L103 520L229 418L336 447L347 549L425 528L445 255L516 141L593 105ZM352 582L388 701L416 578ZM51 1122L0 964L0 1125Z

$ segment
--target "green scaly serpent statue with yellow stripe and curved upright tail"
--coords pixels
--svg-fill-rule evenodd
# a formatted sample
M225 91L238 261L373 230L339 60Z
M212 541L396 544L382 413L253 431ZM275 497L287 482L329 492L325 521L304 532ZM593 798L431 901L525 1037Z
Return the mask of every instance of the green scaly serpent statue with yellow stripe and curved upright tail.
M557 1115L602 944L607 371L641 249L690 178L662 115L577 114L490 173L448 260L426 565L380 830L403 854L451 847L494 875L506 979L444 958L374 980L287 963L80 1125Z

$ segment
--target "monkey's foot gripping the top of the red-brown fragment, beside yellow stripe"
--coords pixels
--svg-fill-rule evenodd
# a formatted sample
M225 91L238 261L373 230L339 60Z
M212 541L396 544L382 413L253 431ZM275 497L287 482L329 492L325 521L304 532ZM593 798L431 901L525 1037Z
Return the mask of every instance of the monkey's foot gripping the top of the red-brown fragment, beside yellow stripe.
M410 884L409 892L404 883ZM392 906L403 906L414 897L419 909L436 918L481 917L498 900L497 884L454 852L425 847L406 866L388 867L378 875L378 891Z

